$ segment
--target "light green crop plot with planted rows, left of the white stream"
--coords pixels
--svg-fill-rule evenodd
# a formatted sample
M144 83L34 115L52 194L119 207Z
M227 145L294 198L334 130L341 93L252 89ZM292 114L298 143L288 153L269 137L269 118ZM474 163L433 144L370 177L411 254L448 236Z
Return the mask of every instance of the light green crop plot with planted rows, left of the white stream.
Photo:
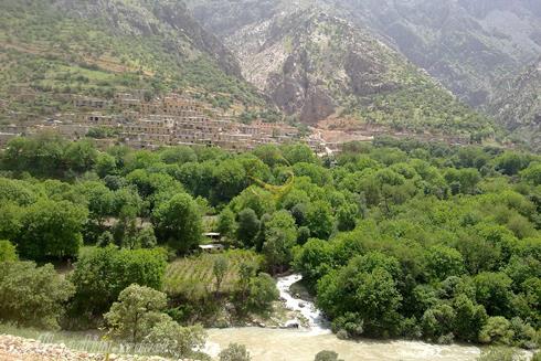
M223 293L233 290L238 280L238 267L243 262L259 264L259 256L250 251L227 251L219 254L201 254L199 256L178 258L169 264L166 270L165 291L170 296L182 295L190 299L198 299L214 290L214 275L212 268L219 256L229 261L227 274L221 289Z

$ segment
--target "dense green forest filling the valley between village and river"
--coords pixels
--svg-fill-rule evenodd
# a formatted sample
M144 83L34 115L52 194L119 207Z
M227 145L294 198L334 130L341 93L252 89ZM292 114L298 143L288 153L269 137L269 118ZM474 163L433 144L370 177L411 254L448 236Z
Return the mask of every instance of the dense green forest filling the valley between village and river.
M43 134L11 140L0 167L2 322L173 338L187 357L203 314L269 312L270 276L294 270L340 338L539 347L538 155L385 137L325 158L103 150ZM235 249L190 264L209 231Z

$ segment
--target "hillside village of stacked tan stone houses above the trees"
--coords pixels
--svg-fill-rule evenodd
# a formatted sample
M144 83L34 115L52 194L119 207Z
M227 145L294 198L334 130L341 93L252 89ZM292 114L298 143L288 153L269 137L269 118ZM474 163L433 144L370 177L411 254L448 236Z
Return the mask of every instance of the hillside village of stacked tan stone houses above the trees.
M116 94L113 99L74 95L70 102L74 109L71 113L0 125L0 147L18 136L54 131L72 140L93 137L100 147L125 144L156 149L187 145L244 151L266 144L304 141L317 153L339 150L338 144L327 144L316 131L301 136L289 124L262 119L244 124L187 95L168 94L151 100L146 100L142 92ZM107 130L106 135L93 136L96 129Z

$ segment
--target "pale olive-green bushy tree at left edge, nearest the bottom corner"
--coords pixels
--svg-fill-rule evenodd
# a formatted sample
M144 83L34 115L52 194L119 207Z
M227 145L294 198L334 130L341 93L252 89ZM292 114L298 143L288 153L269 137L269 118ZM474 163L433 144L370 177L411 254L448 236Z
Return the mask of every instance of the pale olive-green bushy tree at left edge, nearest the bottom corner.
M59 328L73 285L50 264L0 262L0 320L25 327Z

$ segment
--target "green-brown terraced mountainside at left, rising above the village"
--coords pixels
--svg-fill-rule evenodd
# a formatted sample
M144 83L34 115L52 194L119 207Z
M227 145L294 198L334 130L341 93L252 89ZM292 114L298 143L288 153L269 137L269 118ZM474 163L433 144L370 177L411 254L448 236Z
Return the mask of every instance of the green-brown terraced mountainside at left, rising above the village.
M235 56L179 1L0 2L0 114L65 110L59 94L135 89L190 89L223 108L265 106Z

